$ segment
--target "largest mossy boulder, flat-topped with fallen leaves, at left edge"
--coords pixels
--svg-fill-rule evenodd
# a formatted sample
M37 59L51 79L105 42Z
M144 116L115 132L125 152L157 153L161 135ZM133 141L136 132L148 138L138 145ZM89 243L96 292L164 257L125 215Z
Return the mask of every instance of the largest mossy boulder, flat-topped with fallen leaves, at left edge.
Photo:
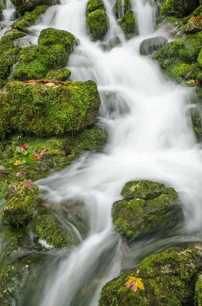
M60 86L12 82L0 91L0 99L2 138L12 131L46 137L80 131L95 121L100 107L93 81Z

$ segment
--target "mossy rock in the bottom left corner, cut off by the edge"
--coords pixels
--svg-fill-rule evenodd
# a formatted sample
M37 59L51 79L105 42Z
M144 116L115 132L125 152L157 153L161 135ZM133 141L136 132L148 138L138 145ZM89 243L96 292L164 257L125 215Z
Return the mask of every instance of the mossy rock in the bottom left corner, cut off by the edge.
M24 284L28 281L29 271L26 263L15 263L4 267L0 272L0 306L16 305Z

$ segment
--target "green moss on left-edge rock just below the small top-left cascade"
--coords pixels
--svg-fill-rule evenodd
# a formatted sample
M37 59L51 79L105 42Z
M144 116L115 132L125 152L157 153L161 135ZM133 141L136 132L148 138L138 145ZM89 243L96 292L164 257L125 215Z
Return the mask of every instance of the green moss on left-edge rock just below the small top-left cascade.
M0 54L14 47L14 41L24 36L24 33L18 30L8 30L0 40Z

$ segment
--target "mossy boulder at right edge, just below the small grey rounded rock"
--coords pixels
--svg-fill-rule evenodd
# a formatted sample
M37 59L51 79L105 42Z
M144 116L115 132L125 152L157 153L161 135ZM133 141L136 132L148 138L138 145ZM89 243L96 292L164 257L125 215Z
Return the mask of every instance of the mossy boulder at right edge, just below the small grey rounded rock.
M154 59L165 69L176 64L192 64L197 61L201 47L202 33L187 34L162 47Z

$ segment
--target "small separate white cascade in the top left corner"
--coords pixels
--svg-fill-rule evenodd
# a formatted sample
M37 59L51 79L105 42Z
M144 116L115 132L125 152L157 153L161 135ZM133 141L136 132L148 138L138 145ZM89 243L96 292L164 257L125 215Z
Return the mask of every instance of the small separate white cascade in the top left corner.
M4 35L4 33L11 27L13 23L13 17L15 8L11 2L11 0L2 1L3 7L3 20L0 21L0 38Z

